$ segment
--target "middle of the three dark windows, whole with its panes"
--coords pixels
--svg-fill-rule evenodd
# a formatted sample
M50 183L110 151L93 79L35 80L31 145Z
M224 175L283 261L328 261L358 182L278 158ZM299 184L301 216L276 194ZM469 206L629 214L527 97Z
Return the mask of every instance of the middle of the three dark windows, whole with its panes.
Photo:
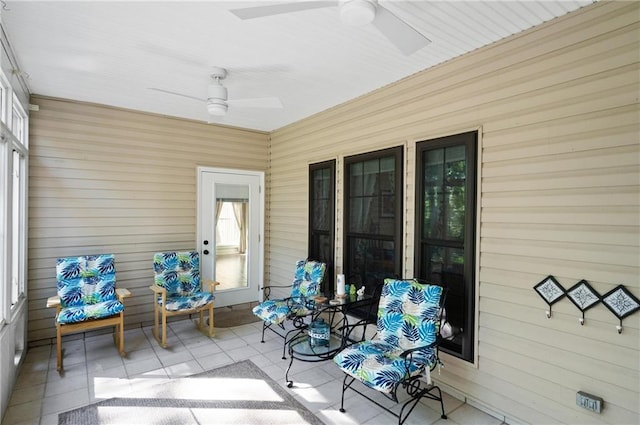
M379 295L402 274L402 147L345 158L344 274Z

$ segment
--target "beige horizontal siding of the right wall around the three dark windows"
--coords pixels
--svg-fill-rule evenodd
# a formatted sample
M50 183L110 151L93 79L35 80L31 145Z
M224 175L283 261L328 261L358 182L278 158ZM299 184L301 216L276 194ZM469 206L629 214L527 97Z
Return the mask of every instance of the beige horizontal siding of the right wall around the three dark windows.
M443 355L437 375L513 423L638 423L639 314L553 307L553 274L640 298L640 4L598 2L275 131L271 281L307 252L310 163L336 158L336 269L343 259L342 158L405 146L404 273L413 273L415 144L478 129L477 361ZM600 415L577 391L605 400Z

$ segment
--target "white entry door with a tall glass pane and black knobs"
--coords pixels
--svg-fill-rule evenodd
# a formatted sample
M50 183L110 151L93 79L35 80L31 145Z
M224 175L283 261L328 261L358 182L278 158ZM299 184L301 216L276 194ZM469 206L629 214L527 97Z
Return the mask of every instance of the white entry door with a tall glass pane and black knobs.
M198 167L201 275L220 284L215 306L258 301L263 282L264 173Z

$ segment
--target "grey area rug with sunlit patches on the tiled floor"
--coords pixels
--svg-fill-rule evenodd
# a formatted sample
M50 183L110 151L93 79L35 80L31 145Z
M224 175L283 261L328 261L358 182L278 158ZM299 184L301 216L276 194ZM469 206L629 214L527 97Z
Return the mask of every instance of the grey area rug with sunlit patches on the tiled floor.
M58 415L58 425L312 424L323 422L250 360Z

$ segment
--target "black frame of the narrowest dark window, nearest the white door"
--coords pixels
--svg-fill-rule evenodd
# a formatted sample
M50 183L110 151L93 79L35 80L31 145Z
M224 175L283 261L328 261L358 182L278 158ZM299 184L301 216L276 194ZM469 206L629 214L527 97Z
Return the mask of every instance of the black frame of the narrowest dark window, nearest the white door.
M329 175L329 188L328 188L328 206L327 206L327 230L314 228L314 212L317 210L315 201L316 187L314 185L314 173L320 170L328 170ZM309 211L308 211L308 247L307 255L310 259L318 260L326 263L327 269L325 272L325 278L322 282L321 292L325 295L332 297L334 288L334 275L335 275L335 228L336 228L336 160L331 159L327 161L317 162L309 164ZM319 248L319 239L324 236L330 243L329 251L330 255L322 255L322 250Z

